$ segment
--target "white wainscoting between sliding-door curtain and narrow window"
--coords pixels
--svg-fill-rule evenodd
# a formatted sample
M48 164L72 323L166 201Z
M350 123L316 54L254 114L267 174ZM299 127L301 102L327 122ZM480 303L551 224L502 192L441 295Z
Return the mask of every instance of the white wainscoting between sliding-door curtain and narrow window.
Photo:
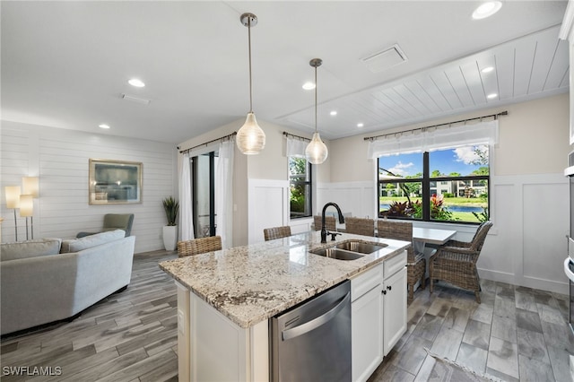
M289 181L248 180L248 242L264 241L263 230L289 224Z

